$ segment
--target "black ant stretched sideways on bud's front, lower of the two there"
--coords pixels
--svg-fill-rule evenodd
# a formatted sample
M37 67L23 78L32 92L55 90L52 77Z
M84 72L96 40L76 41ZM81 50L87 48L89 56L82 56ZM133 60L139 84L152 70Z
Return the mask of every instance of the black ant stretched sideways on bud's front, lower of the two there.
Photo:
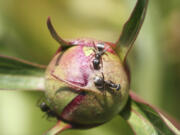
M105 86L108 86L109 88L116 89L117 91L119 91L121 89L120 84L115 84L110 80L105 81L103 73L102 73L102 77L96 76L94 78L94 84L98 89L104 89Z

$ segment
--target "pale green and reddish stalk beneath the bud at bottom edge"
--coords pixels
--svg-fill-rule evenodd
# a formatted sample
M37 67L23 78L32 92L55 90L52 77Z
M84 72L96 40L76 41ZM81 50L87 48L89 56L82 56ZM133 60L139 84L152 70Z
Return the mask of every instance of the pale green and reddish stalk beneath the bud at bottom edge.
M62 121L58 121L57 124L47 131L44 135L58 135L62 131L72 128L70 124L64 123Z

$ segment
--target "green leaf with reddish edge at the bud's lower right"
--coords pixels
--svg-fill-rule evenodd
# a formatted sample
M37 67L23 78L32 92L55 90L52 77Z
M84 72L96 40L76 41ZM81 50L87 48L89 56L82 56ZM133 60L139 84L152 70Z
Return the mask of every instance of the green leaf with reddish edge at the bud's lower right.
M132 92L126 108L120 115L128 121L134 134L180 135L180 130L164 114Z

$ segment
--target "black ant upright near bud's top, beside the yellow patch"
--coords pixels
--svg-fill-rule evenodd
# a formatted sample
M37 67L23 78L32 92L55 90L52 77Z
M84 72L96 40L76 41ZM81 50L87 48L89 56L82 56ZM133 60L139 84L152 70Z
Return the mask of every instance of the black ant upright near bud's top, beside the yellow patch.
M102 59L101 56L106 52L107 48L104 48L104 44L103 43L98 43L97 45L94 44L94 52L95 52L95 58L93 59L92 63L93 63L93 67L96 70L100 69L100 63L102 63Z

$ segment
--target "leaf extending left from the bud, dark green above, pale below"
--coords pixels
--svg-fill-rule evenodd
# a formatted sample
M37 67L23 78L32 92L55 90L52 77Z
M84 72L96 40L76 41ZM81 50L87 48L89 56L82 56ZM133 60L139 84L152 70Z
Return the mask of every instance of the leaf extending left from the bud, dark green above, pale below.
M44 90L45 66L0 55L0 90Z

